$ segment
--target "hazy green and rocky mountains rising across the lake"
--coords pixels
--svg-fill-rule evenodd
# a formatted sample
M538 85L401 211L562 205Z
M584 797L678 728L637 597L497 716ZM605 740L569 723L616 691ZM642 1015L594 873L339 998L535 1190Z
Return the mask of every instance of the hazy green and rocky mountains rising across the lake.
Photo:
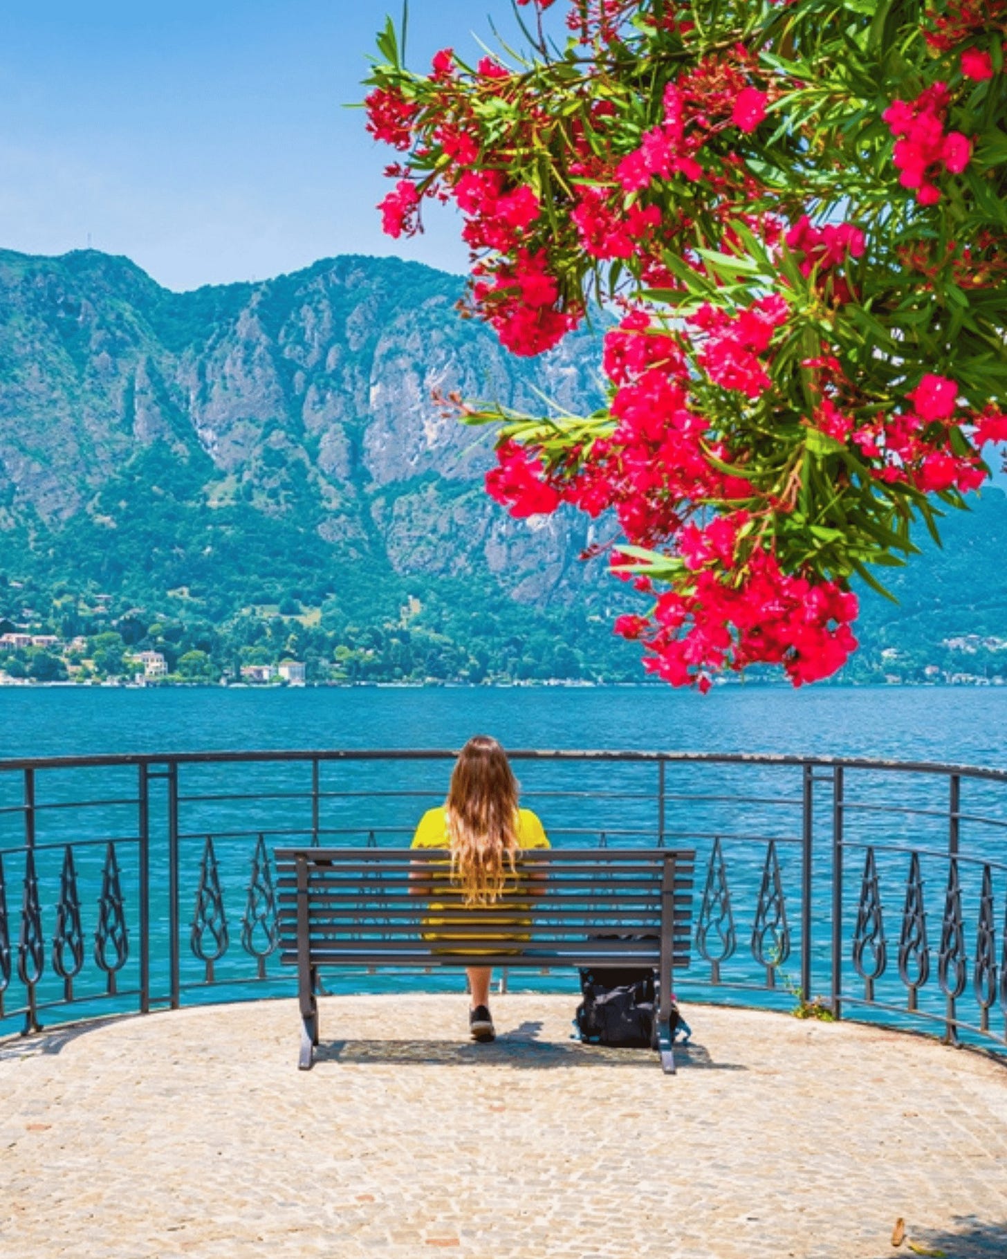
M0 252L0 617L217 671L638 677L610 633L632 592L579 558L607 526L509 517L482 490L490 434L437 400L593 408L597 341L514 359L462 292L388 258L176 293L94 251ZM1007 642L1004 535L991 490L944 553L882 574L903 603L865 597L848 676L955 652L996 671L996 645L943 642Z

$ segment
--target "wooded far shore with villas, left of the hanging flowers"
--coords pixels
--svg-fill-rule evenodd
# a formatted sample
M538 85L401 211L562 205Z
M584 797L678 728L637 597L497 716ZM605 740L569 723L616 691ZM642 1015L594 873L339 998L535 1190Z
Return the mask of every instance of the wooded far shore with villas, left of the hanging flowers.
M585 686L595 681L636 681L639 675L636 652L616 640L608 627L603 646L621 648L626 657L618 669L609 665L603 651L598 652L600 658L592 657L597 643L585 643L583 651L574 652L548 628L527 635L521 632L522 626L515 626L506 636L505 650L478 636L463 647L439 626L418 623L423 604L412 596L398 617L381 617L380 623L368 616L351 621L334 604L313 607L292 596L273 604L244 607L218 623L127 604L111 594L82 594L63 587L49 590L0 575L0 596L4 593L0 686L532 681ZM188 592L170 593L180 603L195 603L183 598Z

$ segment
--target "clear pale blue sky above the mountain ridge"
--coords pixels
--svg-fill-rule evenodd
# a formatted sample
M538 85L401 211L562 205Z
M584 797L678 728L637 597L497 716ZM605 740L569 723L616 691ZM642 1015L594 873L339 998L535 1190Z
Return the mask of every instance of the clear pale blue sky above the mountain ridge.
M390 151L360 78L400 0L5 0L0 247L123 253L171 288L263 279L336 253L462 271L448 212L381 235ZM409 62L476 52L510 0L410 0Z

